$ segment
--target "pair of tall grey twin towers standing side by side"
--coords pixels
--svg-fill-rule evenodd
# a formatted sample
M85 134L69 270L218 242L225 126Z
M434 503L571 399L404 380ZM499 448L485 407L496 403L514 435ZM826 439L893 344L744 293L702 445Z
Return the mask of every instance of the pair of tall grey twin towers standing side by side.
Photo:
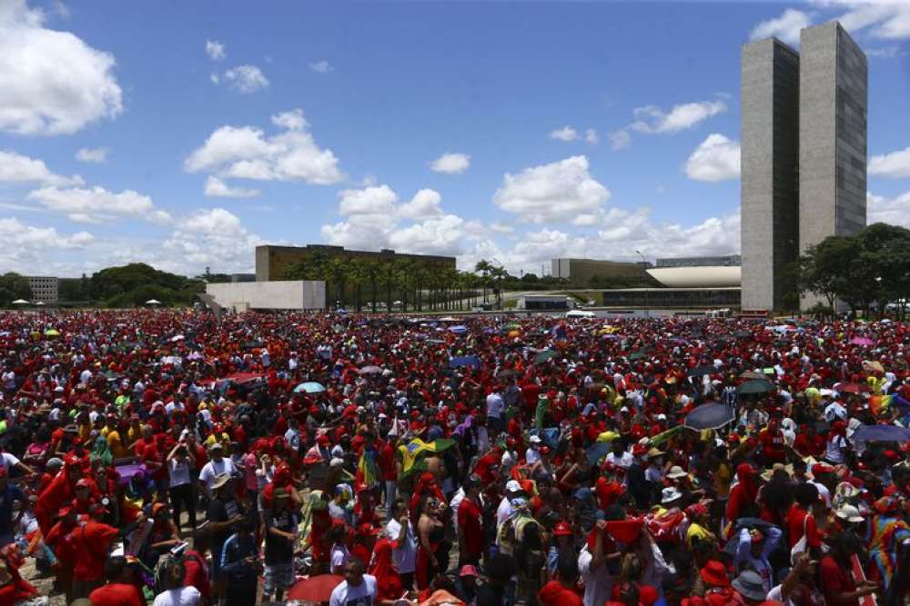
M837 22L743 45L743 310L794 307L789 265L865 226L868 65ZM805 302L806 303L814 303Z

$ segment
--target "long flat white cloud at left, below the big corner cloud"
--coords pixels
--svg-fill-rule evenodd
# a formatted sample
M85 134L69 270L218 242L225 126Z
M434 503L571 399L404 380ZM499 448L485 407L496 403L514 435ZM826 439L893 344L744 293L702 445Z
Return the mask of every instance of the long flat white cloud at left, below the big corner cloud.
M35 190L27 199L81 223L105 223L116 219L141 219L153 224L171 221L170 214L157 209L150 197L128 189L115 194L103 187L50 186Z

